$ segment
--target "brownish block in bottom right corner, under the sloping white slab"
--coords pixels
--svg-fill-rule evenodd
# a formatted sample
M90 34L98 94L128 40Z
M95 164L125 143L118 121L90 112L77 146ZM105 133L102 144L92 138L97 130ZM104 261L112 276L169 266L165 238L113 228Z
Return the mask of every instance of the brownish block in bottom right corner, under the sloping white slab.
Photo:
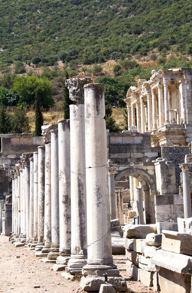
M190 293L191 275L161 268L159 271L159 286L162 293Z

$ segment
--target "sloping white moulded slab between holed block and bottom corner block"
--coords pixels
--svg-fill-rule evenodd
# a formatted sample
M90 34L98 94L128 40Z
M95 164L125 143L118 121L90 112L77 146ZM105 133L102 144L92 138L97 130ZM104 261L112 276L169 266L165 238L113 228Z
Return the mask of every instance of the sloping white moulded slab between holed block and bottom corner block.
M173 272L192 274L192 256L157 250L151 263Z

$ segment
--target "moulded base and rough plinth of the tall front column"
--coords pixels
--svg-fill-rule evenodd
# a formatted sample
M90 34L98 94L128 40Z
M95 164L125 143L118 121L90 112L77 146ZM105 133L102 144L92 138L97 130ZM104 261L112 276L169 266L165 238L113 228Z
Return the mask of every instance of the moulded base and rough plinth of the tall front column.
M128 291L125 279L121 277L114 264L86 265L82 273L80 286L85 291L99 291L101 284L106 284L103 274L107 274L107 283L111 284L116 291Z

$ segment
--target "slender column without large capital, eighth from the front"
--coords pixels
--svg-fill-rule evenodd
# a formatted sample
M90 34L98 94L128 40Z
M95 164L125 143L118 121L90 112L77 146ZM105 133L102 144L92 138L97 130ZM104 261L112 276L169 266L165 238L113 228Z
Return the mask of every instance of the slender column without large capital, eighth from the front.
M32 154L33 155L33 154ZM34 164L33 157L29 159L30 177L29 177L29 240L34 239Z

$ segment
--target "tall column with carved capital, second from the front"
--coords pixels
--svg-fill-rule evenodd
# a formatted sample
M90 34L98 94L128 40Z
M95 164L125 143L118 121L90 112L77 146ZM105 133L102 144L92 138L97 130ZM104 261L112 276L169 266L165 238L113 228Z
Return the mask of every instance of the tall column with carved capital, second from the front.
M76 104L69 106L71 257L65 270L71 274L81 272L87 263L84 85L90 82L92 82L90 78L73 78L65 82L69 90L69 98Z

